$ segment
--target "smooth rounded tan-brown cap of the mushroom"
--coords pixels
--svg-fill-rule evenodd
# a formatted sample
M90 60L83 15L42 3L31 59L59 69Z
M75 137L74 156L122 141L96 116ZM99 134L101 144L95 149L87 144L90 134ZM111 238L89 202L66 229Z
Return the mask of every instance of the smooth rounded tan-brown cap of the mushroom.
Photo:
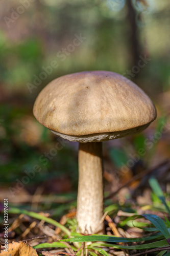
M82 143L140 132L156 118L151 99L129 79L109 71L53 80L38 95L33 112L60 137Z

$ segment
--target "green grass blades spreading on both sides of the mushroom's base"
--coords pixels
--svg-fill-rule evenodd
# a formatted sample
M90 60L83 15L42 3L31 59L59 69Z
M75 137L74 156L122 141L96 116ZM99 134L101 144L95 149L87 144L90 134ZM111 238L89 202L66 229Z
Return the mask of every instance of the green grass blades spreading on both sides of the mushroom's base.
M67 219L67 228L57 221L47 218L41 214L35 212L22 210L18 208L10 208L9 214L25 214L32 218L43 220L46 223L52 224L55 227L61 229L60 241L53 243L41 243L34 246L35 249L39 248L70 248L77 256L84 255L88 252L88 255L104 255L109 256L111 250L122 249L122 250L136 250L137 253L133 255L141 255L157 252L159 256L169 255L170 250L170 209L169 203L166 201L163 191L160 188L157 180L152 177L149 180L150 186L153 190L153 204L144 206L149 210L154 210L157 212L162 212L163 214L168 214L167 217L161 219L159 216L154 214L135 214L130 217L124 217L120 219L117 224L119 227L126 229L127 227L138 227L143 230L144 236L140 238L125 238L125 237L115 237L107 235L89 235L84 236L80 233L76 233L77 222L76 219ZM126 206L127 207L127 206ZM107 207L110 214L116 209L116 205L110 205ZM127 210L127 208L125 208ZM135 212L133 209L128 208L129 211ZM143 218L143 221L141 220ZM140 219L140 220L139 220ZM148 220L148 222L144 222ZM151 224L150 224L151 223ZM69 245L68 242L71 242ZM87 243L88 242L88 243Z

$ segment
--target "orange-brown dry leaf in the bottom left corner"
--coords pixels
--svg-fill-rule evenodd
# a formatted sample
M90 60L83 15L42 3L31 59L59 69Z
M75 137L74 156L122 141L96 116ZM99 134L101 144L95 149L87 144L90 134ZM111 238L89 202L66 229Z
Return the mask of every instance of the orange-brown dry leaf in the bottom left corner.
M3 250L0 256L38 256L37 252L33 247L27 243L13 242L8 245L7 251Z

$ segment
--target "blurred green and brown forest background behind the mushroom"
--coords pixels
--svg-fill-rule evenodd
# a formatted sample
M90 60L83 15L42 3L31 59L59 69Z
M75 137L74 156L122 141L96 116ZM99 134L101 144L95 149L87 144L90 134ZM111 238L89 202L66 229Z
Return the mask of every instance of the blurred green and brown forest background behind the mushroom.
M32 109L48 82L86 70L123 74L158 112L143 133L104 143L106 196L150 168L169 191L169 167L157 168L170 156L169 0L1 0L0 6L1 200L54 208L58 216L76 206L78 143L58 141ZM118 200L138 191L138 202L148 203L145 179L122 189Z

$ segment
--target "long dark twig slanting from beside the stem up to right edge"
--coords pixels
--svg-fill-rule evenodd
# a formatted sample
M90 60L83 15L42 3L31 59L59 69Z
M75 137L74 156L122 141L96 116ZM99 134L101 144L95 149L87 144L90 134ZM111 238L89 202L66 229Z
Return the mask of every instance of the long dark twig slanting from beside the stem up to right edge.
M163 161L162 163L160 163L158 166L145 170L144 172L135 175L132 179L130 179L129 181L125 182L125 184L123 184L122 186L120 186L118 189L116 189L114 192L112 192L109 196L105 197L104 200L112 198L114 195L116 195L122 188L127 187L128 185L130 185L133 181L141 179L142 177L144 177L145 175L148 175L152 172L154 172L154 170L162 167L163 165L166 165L170 163L170 161L167 159L165 161Z

